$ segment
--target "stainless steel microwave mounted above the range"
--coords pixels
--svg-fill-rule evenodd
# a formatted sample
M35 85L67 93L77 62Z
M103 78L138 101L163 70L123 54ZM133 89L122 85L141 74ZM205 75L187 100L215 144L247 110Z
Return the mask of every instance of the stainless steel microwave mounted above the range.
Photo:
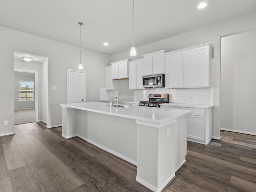
M164 74L144 75L143 87L164 87Z

